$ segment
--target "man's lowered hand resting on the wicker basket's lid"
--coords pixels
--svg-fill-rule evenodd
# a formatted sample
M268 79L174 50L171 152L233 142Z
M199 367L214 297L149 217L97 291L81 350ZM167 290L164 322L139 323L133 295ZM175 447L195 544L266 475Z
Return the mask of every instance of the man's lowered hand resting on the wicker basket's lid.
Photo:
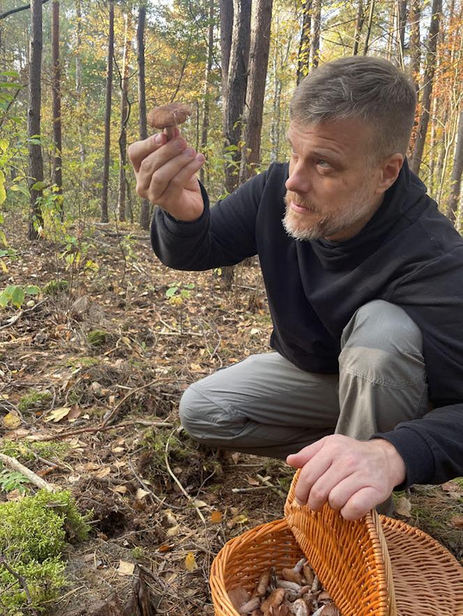
M320 511L328 502L346 520L358 520L384 502L406 477L402 456L382 438L325 436L288 456L287 463L302 469L295 494L299 505Z

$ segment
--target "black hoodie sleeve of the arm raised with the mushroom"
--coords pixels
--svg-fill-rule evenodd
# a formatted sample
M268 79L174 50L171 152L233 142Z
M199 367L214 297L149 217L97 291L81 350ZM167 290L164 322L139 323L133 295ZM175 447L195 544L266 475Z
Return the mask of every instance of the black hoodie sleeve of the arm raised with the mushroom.
M151 224L151 244L160 261L176 270L199 271L236 265L257 254L257 211L269 174L271 167L212 208L201 186L204 212L193 222L175 220L158 208Z

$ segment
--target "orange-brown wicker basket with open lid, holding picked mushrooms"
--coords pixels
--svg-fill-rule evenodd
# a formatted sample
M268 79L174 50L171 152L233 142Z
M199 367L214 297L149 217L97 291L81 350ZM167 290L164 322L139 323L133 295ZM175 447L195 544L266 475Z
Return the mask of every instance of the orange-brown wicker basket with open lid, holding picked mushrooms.
M342 616L463 616L463 569L437 541L374 511L347 522L328 507L318 514L296 507L296 477L287 518L231 539L215 557L210 584L216 616L239 616L229 590L252 591L261 573L275 567L280 574L302 555Z

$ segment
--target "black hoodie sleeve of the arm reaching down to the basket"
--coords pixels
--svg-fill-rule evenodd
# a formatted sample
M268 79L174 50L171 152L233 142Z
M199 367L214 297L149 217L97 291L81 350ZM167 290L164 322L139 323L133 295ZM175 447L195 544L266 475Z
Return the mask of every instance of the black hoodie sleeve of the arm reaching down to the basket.
M463 245L400 282L390 301L423 334L428 396L434 410L402 422L386 438L401 454L411 484L440 484L463 476Z

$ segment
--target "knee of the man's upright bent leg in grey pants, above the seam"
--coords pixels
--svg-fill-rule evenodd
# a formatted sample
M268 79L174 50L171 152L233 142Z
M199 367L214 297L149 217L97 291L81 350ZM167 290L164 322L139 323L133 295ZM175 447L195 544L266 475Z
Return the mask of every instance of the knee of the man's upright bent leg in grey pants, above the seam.
M360 307L341 348L340 371L395 387L425 379L421 331L400 306L374 300Z

